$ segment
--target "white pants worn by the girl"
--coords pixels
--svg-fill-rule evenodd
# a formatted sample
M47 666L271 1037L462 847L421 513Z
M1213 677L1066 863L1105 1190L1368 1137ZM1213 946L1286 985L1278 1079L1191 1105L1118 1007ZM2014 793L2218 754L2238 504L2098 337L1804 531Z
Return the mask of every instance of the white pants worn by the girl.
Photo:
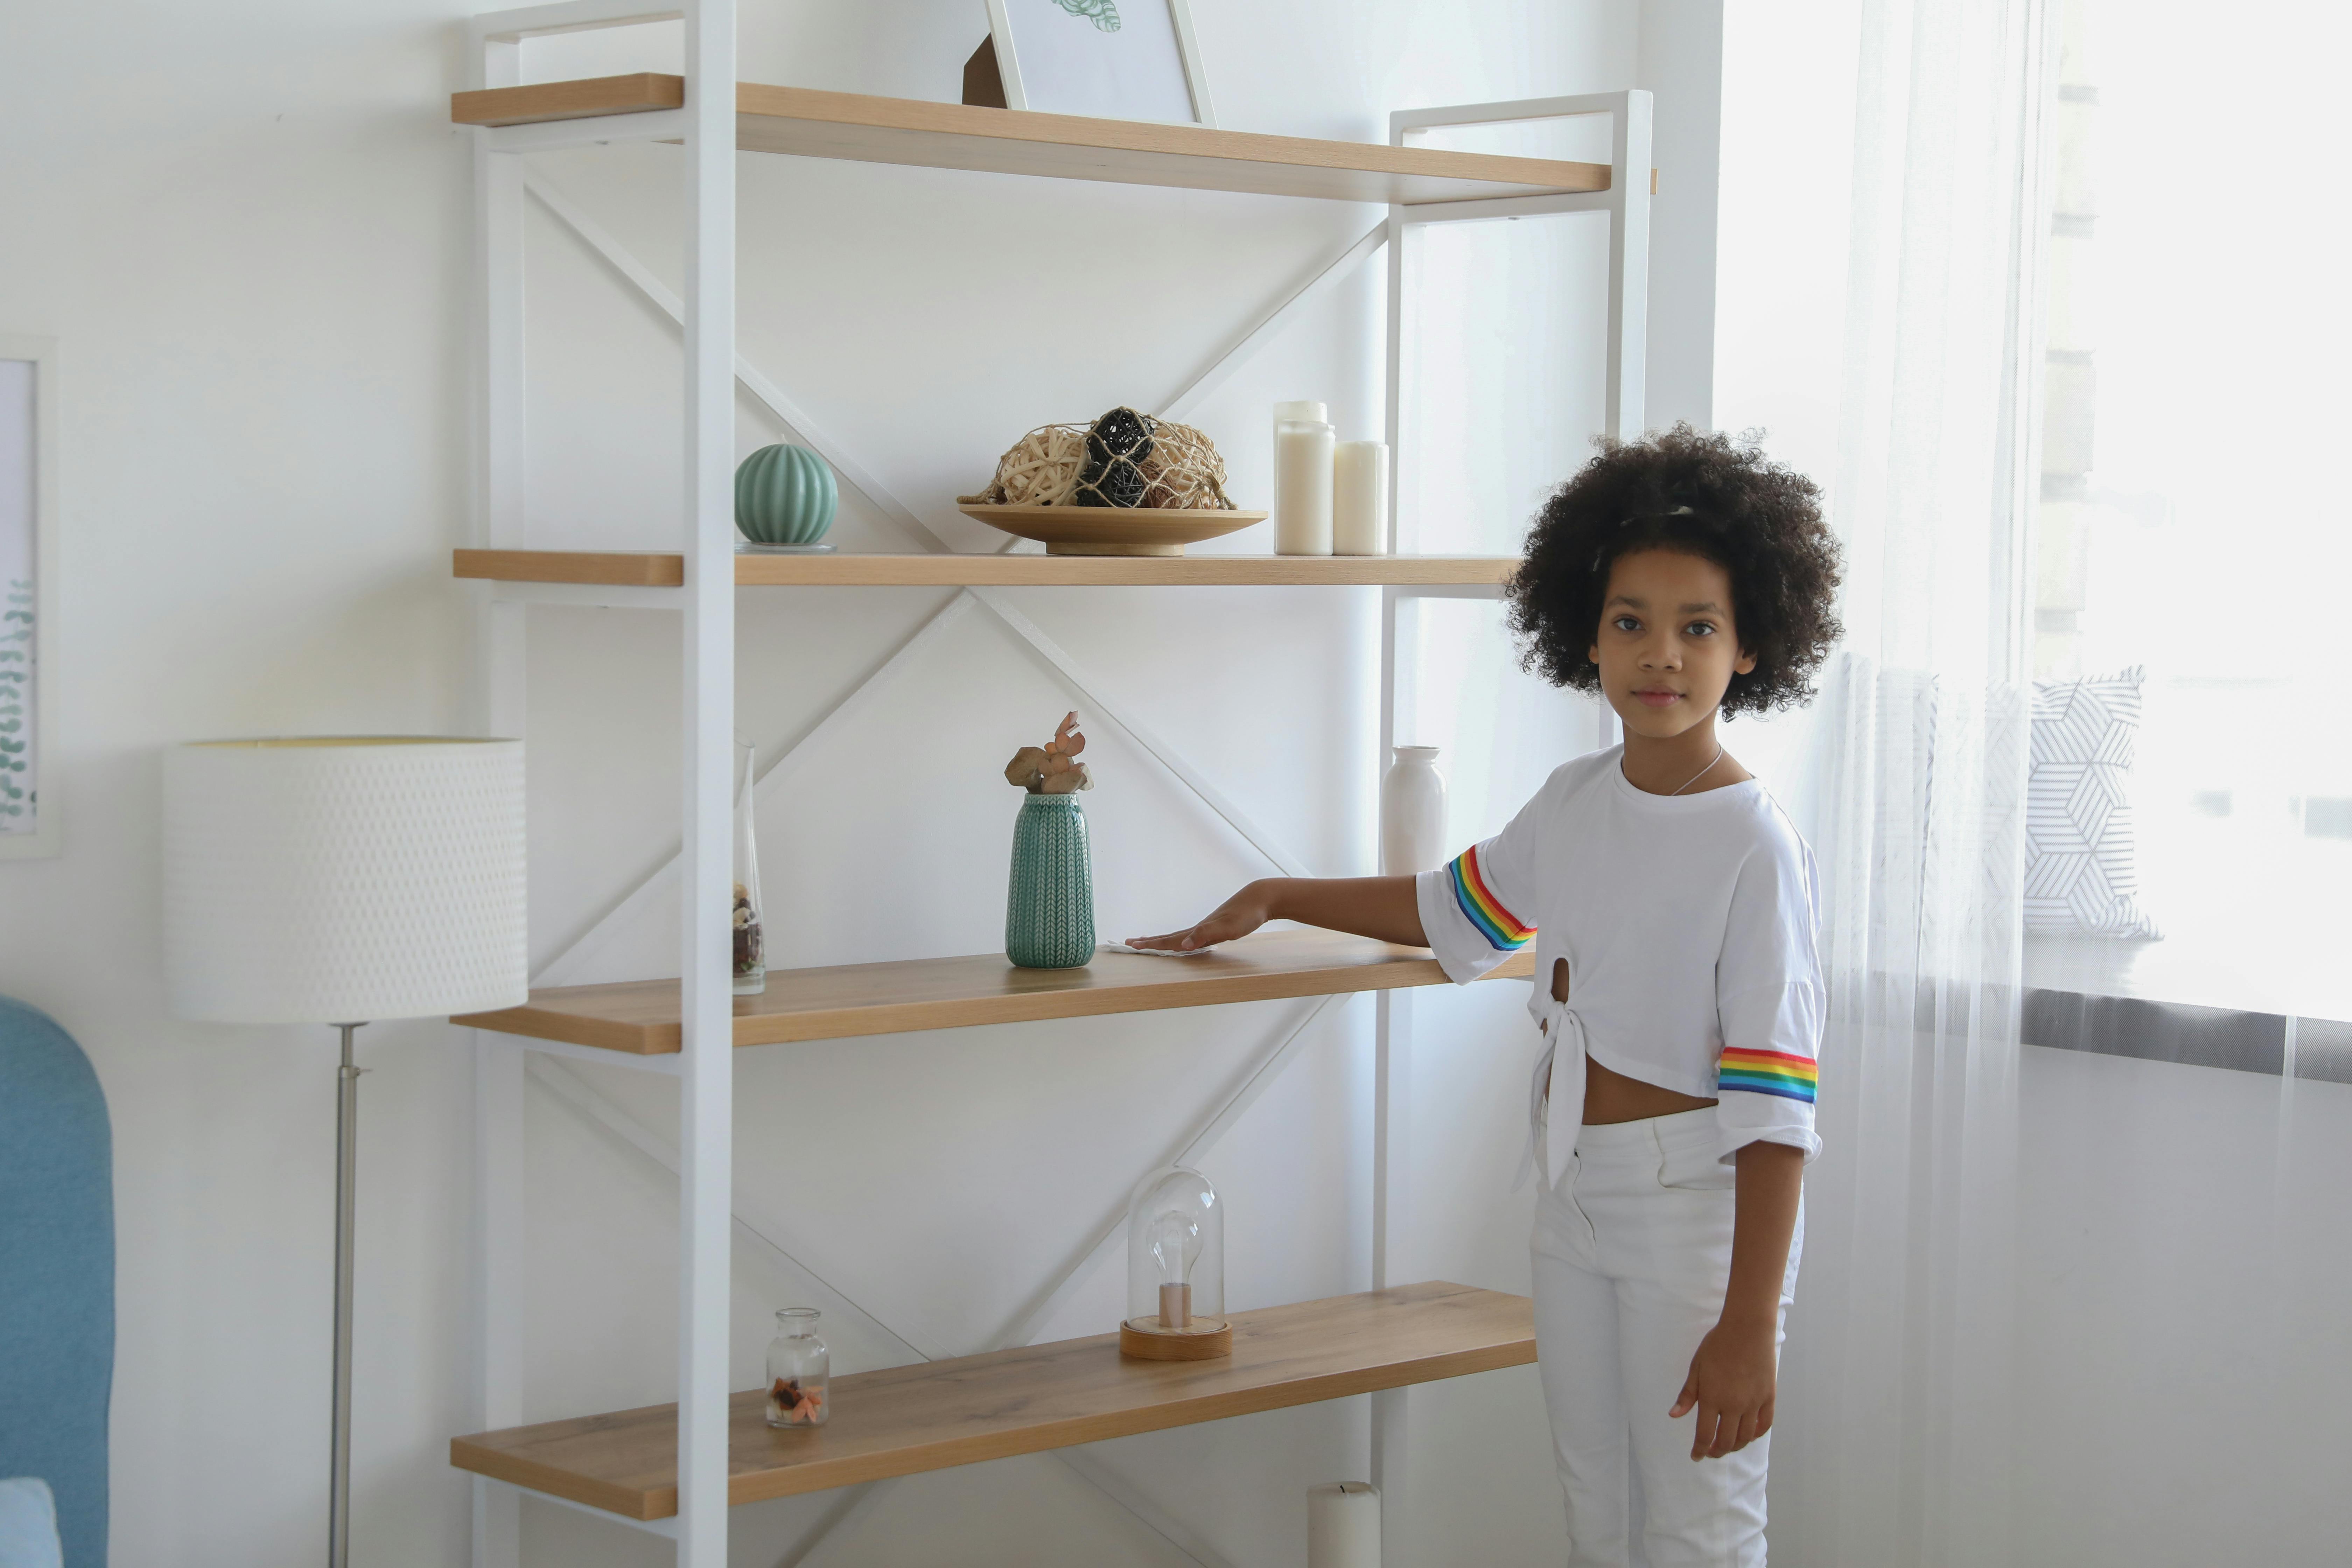
M1717 1159L1717 1138L1712 1110L1585 1126L1559 1187L1536 1199L1536 1371L1571 1568L1764 1568L1771 1436L1691 1460L1696 1413L1665 1418L1731 1279L1733 1168ZM1802 1251L1799 1208L1783 1335Z

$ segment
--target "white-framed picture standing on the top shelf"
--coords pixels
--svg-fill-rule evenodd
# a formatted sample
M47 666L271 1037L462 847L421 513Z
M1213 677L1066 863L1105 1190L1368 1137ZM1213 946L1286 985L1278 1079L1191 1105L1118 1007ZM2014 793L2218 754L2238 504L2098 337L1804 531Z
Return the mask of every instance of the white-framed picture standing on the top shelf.
M988 0L988 35L1004 108L1216 125L1185 0Z

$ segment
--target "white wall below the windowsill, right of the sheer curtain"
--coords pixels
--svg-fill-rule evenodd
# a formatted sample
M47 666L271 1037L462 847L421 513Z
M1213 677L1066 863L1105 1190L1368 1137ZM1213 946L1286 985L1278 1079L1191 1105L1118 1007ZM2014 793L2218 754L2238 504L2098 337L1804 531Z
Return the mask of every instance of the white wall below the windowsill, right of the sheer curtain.
M2025 1051L2018 1540L2345 1561L2352 1086Z

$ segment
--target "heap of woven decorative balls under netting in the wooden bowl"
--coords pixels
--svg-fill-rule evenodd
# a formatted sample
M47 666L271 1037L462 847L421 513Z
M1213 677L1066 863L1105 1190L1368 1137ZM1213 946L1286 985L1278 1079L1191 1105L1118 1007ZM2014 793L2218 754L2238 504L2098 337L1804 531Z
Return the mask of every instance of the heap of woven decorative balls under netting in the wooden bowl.
M1091 425L1037 425L964 505L1115 505L1230 512L1216 442L1174 421L1110 409Z

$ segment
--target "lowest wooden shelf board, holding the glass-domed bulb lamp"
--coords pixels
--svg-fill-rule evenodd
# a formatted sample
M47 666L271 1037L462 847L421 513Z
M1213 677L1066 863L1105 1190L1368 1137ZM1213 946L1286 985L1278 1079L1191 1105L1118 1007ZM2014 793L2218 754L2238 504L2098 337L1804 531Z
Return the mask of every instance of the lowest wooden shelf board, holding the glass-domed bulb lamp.
M1120 1335L833 1380L823 1427L774 1432L757 1389L727 1420L727 1500L764 1502L1016 1453L1463 1378L1536 1359L1524 1295L1418 1284L1232 1314L1232 1356L1127 1361ZM482 1432L449 1462L628 1519L677 1512L677 1406Z

